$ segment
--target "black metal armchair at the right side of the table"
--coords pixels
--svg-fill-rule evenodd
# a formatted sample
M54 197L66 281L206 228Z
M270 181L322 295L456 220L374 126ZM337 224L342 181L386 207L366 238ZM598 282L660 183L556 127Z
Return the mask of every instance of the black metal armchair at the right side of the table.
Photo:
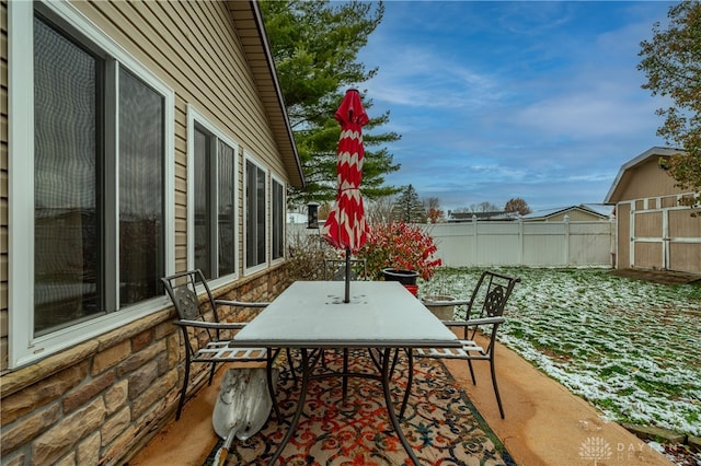
M464 321L444 321L450 328L462 328L461 348L421 348L416 350L418 358L446 358L462 359L468 361L472 384L476 385L472 361L490 361L492 372L492 385L494 395L499 407L499 413L504 419L504 407L496 383L496 372L494 371L494 349L496 347L496 334L499 326L505 322L504 308L506 302L514 291L520 278L514 278L493 271L484 271L480 276L478 284L472 291L469 300L456 300L445 302L432 302L432 306L466 306ZM472 316L475 316L473 318ZM482 329L484 336L489 338L486 348L474 341L478 329Z

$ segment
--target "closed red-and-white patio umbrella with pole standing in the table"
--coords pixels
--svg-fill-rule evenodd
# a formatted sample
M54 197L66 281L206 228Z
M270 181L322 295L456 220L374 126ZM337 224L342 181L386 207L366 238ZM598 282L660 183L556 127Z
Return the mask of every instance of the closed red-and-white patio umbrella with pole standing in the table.
M363 125L369 121L363 108L360 93L346 91L336 114L341 124L336 175L336 201L321 232L334 247L346 252L346 290L344 302L350 301L350 255L367 242L369 228L365 221L365 208L360 194L363 180Z

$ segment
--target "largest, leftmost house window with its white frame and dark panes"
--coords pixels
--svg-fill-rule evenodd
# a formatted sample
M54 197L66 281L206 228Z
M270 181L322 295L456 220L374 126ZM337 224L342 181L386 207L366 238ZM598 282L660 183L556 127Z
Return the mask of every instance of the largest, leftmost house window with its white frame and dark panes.
M18 366L162 307L174 98L68 3L11 2L9 31Z

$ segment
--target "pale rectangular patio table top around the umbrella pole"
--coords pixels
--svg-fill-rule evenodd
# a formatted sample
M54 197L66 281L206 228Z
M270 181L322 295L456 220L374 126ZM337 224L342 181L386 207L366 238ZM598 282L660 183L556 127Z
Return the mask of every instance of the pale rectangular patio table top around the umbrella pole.
M448 329L399 282L296 281L232 346L275 348L424 348L459 346Z

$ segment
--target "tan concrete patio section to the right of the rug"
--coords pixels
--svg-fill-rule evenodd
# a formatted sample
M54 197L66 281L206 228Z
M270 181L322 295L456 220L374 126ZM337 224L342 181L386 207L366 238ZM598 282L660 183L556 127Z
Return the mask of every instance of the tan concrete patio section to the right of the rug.
M478 385L472 385L464 361L446 361L446 366L518 465L671 464L502 345L496 349L496 368L506 419L499 416L487 363L473 363Z

